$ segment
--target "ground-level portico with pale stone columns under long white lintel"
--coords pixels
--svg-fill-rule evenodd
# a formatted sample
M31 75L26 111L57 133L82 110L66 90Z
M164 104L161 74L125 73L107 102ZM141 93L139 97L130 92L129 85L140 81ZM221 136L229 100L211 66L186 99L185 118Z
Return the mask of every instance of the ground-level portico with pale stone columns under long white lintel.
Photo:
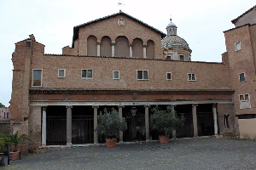
M218 113L217 113L218 104L229 105L231 104L231 101L230 100L213 100L213 101L198 100L198 101L168 101L168 102L167 101L65 101L65 102L64 101L32 101L30 105L31 107L38 107L38 106L42 107L42 125L41 125L42 135L41 136L42 136L42 146L45 146L45 145L55 145L55 144L64 144L64 145L85 144L84 142L88 142L90 144L92 143L97 144L99 142L102 142L102 140L99 139L96 132L94 132L94 129L97 126L97 115L99 111L102 111L104 109L104 107L115 108L117 111L119 111L119 116L125 117L128 122L129 129L126 132L119 133L119 143L122 143L124 141L138 141L142 139L149 141L150 139L155 139L154 132L150 133L150 130L149 130L150 107L154 107L154 105L160 105L163 108L165 108L166 105L173 105L173 108L177 108L177 114L183 113L183 111L180 108L187 108L186 110L188 111L188 113L183 113L183 114L188 115L186 117L187 123L189 122L189 119L190 119L189 117L193 118L193 123L191 124L192 127L189 127L190 125L188 123L187 125L185 125L183 129L177 131L177 137L179 136L180 137L196 137L204 134L218 135L218 121L217 121L218 120ZM176 105L176 107L174 107L174 105ZM202 106L207 107L208 108L207 110L210 110L212 107L212 111L210 112L208 111L210 116L207 116L209 117L207 118L207 120L212 119L211 121L212 123L210 123L212 124L212 130L209 130L210 128L209 123L208 123L208 127L206 127L204 124L206 124L207 122L202 122L201 121L202 119L198 119L197 117L198 112L196 111L196 109L197 107L201 108ZM131 108L136 108L137 116L131 115ZM65 110L66 110L66 114L65 114ZM59 126L55 124L58 121L50 122L50 117L55 115L55 114L52 115L55 111L60 111L59 121L61 121L61 124ZM51 115L48 116L48 114L51 114ZM128 116L127 114L130 116ZM200 112L199 114L201 117L202 113ZM139 116L139 115L142 115L142 116ZM86 119L86 121L84 121L85 119L82 118L82 116L87 116L87 117L90 116L91 118ZM77 119L77 121L74 121L74 119ZM78 121L80 123L78 123ZM201 124L198 124L198 121ZM48 125L52 126L53 123L55 124L55 127L54 127L55 130L53 130L52 127L51 128L47 127ZM63 123L66 124L65 126L66 132L64 132L65 130L63 130L64 128L62 128L64 125ZM78 127L78 126L81 126L82 124L83 124L83 127ZM88 129L84 130L84 127ZM57 129L57 128L60 128L60 129ZM198 128L200 128L200 131ZM208 128L208 132L206 132L207 128ZM189 131L192 130L193 133L188 133L188 132L183 133L183 131L188 131L188 130ZM52 136L55 136L55 133L49 132L49 131L55 131L55 133L59 133L57 135L60 135L60 133L62 132L62 137L61 137L62 142L60 143L60 141L57 142L57 139L52 139ZM49 133L53 133L53 134L49 135ZM125 139L124 139L124 135L125 135ZM88 136L91 136L91 138L89 140L85 140L84 138L88 139ZM47 139L47 137L49 139ZM50 140L52 141L49 142Z

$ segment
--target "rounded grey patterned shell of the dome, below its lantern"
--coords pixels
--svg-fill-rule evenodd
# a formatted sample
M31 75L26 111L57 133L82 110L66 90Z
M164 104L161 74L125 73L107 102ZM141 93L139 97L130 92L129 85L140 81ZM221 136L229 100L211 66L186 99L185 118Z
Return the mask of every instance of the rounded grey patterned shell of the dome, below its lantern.
M186 42L182 37L178 36L167 36L162 40L162 48L189 48L188 42Z

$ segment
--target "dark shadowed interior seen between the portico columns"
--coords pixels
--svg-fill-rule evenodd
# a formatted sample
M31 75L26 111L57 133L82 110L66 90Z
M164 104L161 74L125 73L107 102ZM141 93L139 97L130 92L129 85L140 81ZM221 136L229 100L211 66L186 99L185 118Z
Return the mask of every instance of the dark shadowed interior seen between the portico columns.
M166 105L159 105L166 109ZM151 108L154 105L151 105ZM97 112L114 108L119 111L118 106L99 106ZM151 109L149 108L149 116ZM184 126L177 129L177 138L189 138L194 136L192 105L176 105L177 116L185 117ZM122 108L128 129L123 133L124 142L146 140L145 107L144 105L125 105ZM197 127L198 135L206 136L214 134L212 115L212 104L197 105ZM94 109L91 105L73 105L72 108L72 144L94 143ZM46 144L67 144L67 108L65 105L49 105L46 111ZM150 139L158 140L158 133L150 130ZM172 133L170 133L172 138ZM105 143L104 136L98 136L99 143Z

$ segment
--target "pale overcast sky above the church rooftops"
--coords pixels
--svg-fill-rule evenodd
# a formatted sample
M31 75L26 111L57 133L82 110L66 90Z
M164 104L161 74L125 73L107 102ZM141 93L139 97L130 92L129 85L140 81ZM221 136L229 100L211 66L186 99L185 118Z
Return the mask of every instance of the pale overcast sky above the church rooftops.
M34 34L45 54L61 54L72 45L73 26L96 20L121 9L166 33L172 22L177 35L192 49L193 61L221 62L225 52L223 31L255 5L255 0L0 0L0 103L9 106L12 88L12 53L15 42Z

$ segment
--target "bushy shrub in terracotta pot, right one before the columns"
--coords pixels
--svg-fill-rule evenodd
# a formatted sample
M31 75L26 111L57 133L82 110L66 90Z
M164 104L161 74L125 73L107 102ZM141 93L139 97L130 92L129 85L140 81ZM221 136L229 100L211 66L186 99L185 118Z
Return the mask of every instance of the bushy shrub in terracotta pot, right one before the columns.
M168 133L171 133L178 127L182 127L185 118L183 115L178 117L171 105L166 106L166 110L161 110L160 107L156 105L151 111L153 114L150 115L150 128L160 134L160 143L168 143Z

